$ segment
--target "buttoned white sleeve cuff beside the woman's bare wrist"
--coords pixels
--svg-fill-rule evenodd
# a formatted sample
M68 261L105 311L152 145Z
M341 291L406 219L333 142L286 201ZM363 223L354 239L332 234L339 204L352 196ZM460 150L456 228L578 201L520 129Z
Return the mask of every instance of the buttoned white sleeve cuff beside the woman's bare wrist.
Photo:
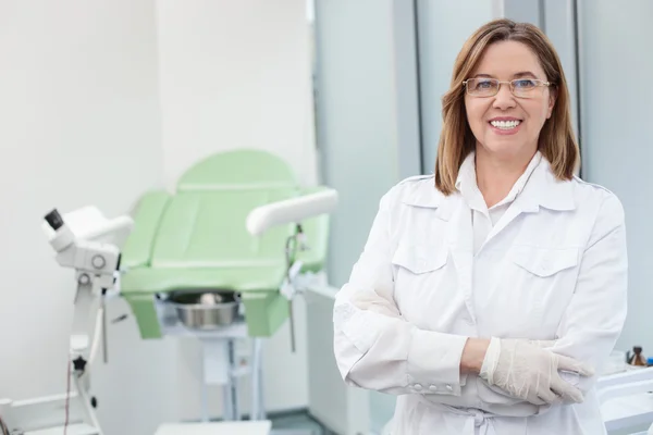
M460 358L467 337L412 330L408 350L408 388L415 393L459 396Z

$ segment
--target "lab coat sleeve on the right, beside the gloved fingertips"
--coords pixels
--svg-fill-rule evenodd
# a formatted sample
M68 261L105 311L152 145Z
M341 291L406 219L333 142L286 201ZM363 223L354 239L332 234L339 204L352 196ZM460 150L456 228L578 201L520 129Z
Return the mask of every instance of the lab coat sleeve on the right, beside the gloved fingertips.
M599 371L624 327L627 312L628 258L624 210L611 195L600 208L580 259L571 301L563 316L553 351L589 363ZM596 376L571 380L582 391Z

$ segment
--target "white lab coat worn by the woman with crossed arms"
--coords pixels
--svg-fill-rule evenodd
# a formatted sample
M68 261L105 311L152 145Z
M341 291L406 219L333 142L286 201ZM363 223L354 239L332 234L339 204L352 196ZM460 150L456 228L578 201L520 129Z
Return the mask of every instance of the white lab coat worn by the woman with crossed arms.
M473 252L471 211L433 176L383 196L334 307L345 382L397 395L393 435L587 434L605 430L595 377L580 405L534 406L460 375L467 337L556 339L593 365L626 318L624 211L606 189L558 182L545 159Z

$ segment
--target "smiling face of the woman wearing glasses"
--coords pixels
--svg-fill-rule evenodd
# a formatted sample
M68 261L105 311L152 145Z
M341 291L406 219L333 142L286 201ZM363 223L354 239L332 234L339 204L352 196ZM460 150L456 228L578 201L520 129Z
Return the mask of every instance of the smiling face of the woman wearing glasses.
M491 87L486 79L504 82L494 96L465 95L467 121L477 139L477 153L500 160L530 160L538 149L540 130L551 117L555 95L550 87L537 86L522 92L527 98L516 97L505 82L519 79L515 83L517 92L537 84L529 79L546 82L537 55L521 42L494 42L469 78L481 79L476 83L479 91ZM481 95L483 92L485 90Z

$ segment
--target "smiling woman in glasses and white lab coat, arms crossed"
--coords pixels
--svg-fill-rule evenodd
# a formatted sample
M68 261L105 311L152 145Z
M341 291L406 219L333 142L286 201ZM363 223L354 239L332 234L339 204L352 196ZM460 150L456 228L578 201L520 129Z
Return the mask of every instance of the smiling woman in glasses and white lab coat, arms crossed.
M349 385L393 435L603 434L593 391L626 318L624 211L574 176L558 57L491 22L458 54L435 173L383 196L334 308Z

